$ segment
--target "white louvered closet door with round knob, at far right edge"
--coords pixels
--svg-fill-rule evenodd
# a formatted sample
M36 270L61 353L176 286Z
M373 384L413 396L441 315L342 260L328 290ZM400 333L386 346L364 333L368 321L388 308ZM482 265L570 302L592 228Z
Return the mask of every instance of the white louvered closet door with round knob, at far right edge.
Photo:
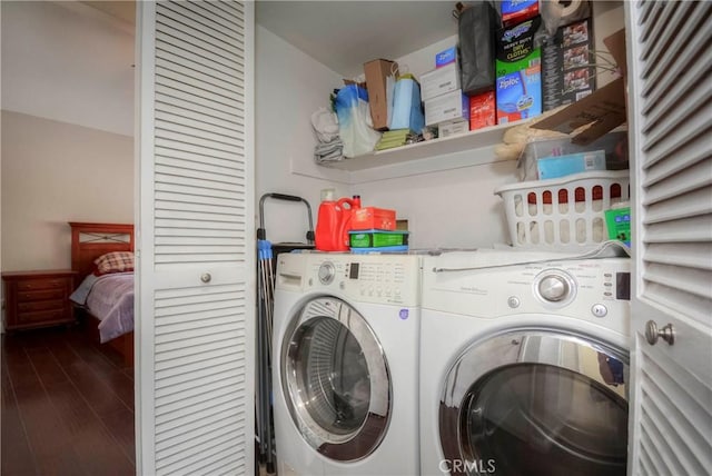
M635 257L629 474L706 475L712 2L626 2L626 14Z

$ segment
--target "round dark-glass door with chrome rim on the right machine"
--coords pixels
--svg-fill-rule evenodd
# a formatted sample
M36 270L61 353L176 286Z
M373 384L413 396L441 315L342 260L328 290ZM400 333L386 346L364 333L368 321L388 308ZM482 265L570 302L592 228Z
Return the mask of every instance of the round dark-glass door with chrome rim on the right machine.
M625 475L627 353L520 329L475 343L446 376L441 468L498 476Z

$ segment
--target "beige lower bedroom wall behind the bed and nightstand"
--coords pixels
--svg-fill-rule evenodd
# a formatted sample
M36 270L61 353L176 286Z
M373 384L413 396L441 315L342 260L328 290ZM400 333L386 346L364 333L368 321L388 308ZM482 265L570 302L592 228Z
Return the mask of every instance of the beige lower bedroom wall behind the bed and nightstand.
M134 222L134 139L2 111L2 270L70 268L68 221Z

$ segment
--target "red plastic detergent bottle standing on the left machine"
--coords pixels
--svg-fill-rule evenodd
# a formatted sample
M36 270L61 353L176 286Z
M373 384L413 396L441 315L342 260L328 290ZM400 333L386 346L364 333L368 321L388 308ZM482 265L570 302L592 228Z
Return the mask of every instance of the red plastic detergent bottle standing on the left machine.
M319 205L316 220L314 242L317 250L348 251L348 226L352 221L352 209L356 206L360 206L359 197L334 200L334 191L327 190Z

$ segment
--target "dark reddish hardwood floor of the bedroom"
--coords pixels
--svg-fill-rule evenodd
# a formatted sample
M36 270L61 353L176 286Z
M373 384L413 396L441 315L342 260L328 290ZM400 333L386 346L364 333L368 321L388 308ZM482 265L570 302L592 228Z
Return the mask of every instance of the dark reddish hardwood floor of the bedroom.
M79 328L2 335L2 476L134 475L134 369Z

